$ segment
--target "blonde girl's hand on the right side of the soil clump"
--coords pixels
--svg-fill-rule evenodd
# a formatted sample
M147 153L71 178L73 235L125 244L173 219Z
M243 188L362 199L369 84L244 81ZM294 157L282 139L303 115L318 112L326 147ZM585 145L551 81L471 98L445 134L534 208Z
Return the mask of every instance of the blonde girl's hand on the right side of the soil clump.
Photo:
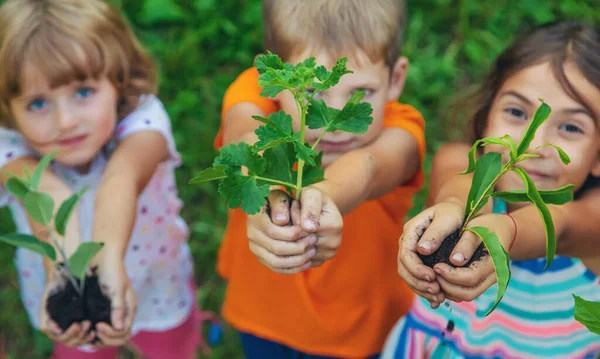
M94 344L94 348L124 345L131 335L136 298L125 271L123 258L118 253L112 253L110 247L104 247L94 258L91 268L94 266L97 266L100 287L111 302L112 323L112 326L103 322L96 324L96 334L100 341Z

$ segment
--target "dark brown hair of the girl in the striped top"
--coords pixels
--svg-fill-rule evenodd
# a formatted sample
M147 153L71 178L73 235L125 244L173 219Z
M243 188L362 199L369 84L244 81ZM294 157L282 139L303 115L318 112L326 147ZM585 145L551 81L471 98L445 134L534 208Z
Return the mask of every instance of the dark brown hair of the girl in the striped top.
M554 76L567 94L593 113L568 81L564 65L574 63L588 81L600 88L600 31L577 22L551 22L518 37L494 63L471 99L474 105L471 118L473 141L484 137L490 108L504 82L515 73L545 61L550 63Z

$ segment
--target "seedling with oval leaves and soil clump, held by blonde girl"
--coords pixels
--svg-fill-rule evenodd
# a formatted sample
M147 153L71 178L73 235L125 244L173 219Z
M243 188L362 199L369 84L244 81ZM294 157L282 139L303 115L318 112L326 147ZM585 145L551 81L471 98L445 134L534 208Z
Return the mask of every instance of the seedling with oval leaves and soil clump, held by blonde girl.
M76 309L81 309L82 313L71 314L71 316L83 320L83 317L85 317L85 315L83 315L85 306L90 304L89 298L85 300L84 303L86 292L88 294L90 292L100 292L97 278L95 276L88 276L86 278L86 274L88 272L89 262L102 248L103 243L80 243L75 252L67 258L65 249L57 239L57 234L60 236L65 235L69 218L86 189L82 189L64 201L56 212L56 215L54 215L54 200L47 193L40 192L38 187L42 173L55 156L56 153L53 153L42 158L33 171L33 174L26 171L24 177L11 175L6 183L6 189L23 203L27 214L35 222L44 226L45 233L48 234L48 237L54 246L35 236L23 233L0 235L0 241L16 247L26 248L50 259L54 262L56 270L68 281L65 288L52 293L48 298L48 311L51 318L65 330L70 324L77 320L71 320L73 318L68 318L59 314L59 312L64 313L64 311L68 312L69 310L73 312L75 310L72 307L60 308L62 298L65 298L65 301L76 306ZM51 227L52 222L54 222L54 229ZM86 283L88 283L88 285L90 285L89 283L92 283L93 288L86 289ZM69 294L69 290L76 291L75 298ZM104 298L105 300L108 300L108 298ZM103 302L102 298L99 298L98 301ZM96 307L98 307L97 303ZM110 308L110 302L108 302L108 307ZM110 320L108 320L108 322L110 322Z

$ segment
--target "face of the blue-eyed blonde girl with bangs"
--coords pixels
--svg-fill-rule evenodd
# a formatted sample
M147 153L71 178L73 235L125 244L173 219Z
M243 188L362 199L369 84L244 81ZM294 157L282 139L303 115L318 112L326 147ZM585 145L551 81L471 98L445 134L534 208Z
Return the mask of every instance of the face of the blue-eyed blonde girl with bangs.
M40 154L86 172L113 133L117 91L106 76L52 88L35 67L24 65L21 94L10 101L17 128Z

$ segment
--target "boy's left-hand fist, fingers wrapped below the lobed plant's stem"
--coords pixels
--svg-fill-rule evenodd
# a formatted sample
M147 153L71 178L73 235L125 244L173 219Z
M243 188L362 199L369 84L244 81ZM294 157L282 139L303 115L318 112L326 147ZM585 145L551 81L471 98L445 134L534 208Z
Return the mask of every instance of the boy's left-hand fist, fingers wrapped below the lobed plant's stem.
M255 215L248 216L247 235L250 251L267 268L281 274L295 274L311 267L317 239L290 219L299 217L298 203L289 195L273 190L267 205ZM269 216L269 210L271 211ZM271 220L273 218L273 220Z

